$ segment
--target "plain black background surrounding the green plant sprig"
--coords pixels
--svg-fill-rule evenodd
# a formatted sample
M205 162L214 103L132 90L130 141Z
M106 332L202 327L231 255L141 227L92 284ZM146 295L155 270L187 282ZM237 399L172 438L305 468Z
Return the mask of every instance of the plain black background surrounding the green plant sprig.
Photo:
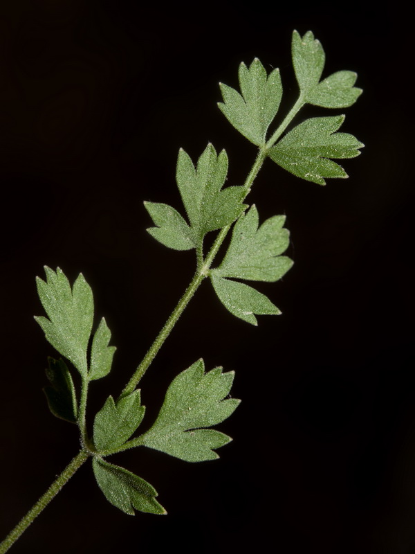
M114 456L153 484L167 517L113 508L86 464L13 552L415 553L412 319L412 33L399 3L222 1L184 5L19 1L0 10L0 536L76 454L77 429L42 393L53 349L35 276L82 271L118 346L91 388L90 416L118 394L192 277L192 252L145 233L142 201L181 209L178 148L211 141L241 184L255 148L216 108L241 60L279 66L282 113L296 98L291 33L311 29L324 76L365 89L344 132L366 144L326 187L270 161L250 202L287 216L293 269L258 285L281 308L253 328L209 283L142 380L150 425L171 379L199 357L237 372L243 402L219 428L219 461L140 450ZM410 50L411 48L411 50ZM306 108L307 115L330 115Z

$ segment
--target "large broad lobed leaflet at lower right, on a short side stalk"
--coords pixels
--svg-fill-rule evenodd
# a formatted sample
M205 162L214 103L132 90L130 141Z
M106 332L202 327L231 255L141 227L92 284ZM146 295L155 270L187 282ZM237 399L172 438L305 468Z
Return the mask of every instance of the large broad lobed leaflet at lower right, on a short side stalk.
M187 462L219 458L213 449L232 440L214 429L228 418L240 400L228 395L234 372L214 368L205 373L203 360L182 371L167 389L163 406L154 425L142 436L142 444Z

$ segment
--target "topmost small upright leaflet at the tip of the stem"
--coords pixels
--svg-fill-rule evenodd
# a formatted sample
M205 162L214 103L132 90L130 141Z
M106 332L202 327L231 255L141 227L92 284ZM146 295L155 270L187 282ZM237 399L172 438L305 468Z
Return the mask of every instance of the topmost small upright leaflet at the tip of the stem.
M299 89L306 96L320 81L325 61L322 45L311 30L303 37L293 32L292 56Z

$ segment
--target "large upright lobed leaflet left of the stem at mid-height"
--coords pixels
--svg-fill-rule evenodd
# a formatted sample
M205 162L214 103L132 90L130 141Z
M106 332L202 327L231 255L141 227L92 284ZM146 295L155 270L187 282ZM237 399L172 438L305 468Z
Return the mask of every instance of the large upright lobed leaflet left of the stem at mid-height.
M183 204L199 244L209 231L233 223L246 208L242 204L245 191L241 186L221 190L228 174L225 150L216 154L211 144L195 168L190 156L181 149L178 153L176 181Z

